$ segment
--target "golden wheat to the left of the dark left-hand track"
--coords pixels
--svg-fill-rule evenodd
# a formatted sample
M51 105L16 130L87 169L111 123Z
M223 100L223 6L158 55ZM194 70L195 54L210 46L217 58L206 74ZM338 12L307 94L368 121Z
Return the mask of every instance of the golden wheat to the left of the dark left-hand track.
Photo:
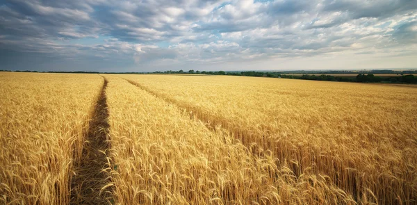
M0 204L68 204L103 79L0 73Z

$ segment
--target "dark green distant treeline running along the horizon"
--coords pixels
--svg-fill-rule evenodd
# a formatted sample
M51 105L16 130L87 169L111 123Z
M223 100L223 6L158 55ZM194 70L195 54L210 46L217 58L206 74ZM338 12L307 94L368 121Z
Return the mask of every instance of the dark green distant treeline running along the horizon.
M0 70L0 72L38 72L38 71L10 71ZM407 71L393 71L393 70L371 70L363 71L355 76L333 76L327 74L357 74L353 71L289 71L289 72L256 72L256 71L244 71L244 72L224 72L224 71L194 71L190 69L188 72L184 72L182 69L179 71L168 70L165 72L46 72L46 73L78 73L78 74L207 74L207 75L228 75L228 76L255 76L255 77L268 77L268 78L282 78L282 79L302 79L311 81L341 81L341 82L359 82L359 83L417 83L417 77L411 73L415 73L414 70ZM295 75L297 74L297 75ZM302 75L300 75L302 74ZM316 75L320 74L320 75ZM374 74L397 74L397 76L375 76Z

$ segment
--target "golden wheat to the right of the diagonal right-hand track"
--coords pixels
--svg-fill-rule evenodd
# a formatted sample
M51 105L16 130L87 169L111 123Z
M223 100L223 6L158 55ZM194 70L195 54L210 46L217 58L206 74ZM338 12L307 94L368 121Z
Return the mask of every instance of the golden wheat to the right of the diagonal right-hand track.
M122 75L244 145L324 174L355 201L417 199L417 90L235 76Z

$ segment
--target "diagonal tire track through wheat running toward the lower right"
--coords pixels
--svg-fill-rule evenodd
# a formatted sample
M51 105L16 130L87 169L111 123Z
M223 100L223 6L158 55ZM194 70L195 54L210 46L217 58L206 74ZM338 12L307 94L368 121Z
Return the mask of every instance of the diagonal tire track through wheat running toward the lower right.
M352 195L356 202L361 202L363 197L362 195L368 194L368 190L371 190L374 193L382 191L383 193L379 193L377 197L385 197L386 195L391 197L389 199L378 198L376 202L379 204L390 204L391 202L398 202L396 201L397 199L393 199L393 192L388 190L381 190L379 188L379 185L384 184L384 181L386 181L384 177L380 177L376 179L376 181L366 181L366 179L364 181L363 176L354 170L355 166L353 163L347 162L347 166L343 163L335 163L334 156L324 156L320 153L320 150L312 149L311 147L305 147L304 145L293 145L290 142L285 142L284 140L274 140L269 138L268 135L257 136L256 134L245 133L245 130L243 129L231 128L229 124L225 121L222 121L222 119L218 119L218 117L215 117L210 113L201 113L202 111L200 111L197 106L181 104L181 102L150 90L140 83L128 79L124 80L128 81L132 85L136 85L136 87L142 90L145 90L149 94L154 95L154 97L163 99L168 103L173 104L174 106L186 110L188 113L190 113L191 119L204 122L206 127L211 131L216 131L216 126L222 126L223 129L228 131L229 134L233 135L234 138L240 140L240 142L242 142L242 144L245 145L245 147L247 147L247 149L249 149L250 152L256 156L263 157L265 151L270 149L269 147L275 147L275 149L270 151L272 151L272 154L275 156L275 158L278 158L279 161L277 161L277 165L286 165L293 171L295 177L297 178L303 174L305 168L312 167L311 171L313 173L325 174L329 176L333 174L334 179L332 180L332 183L334 183L334 185L336 185L338 188L341 188L341 190ZM215 120L217 122L215 122ZM309 156L310 160L303 160L304 156ZM297 160L298 158L300 158L300 160ZM374 186L368 188L370 183L375 184ZM412 201L414 201L414 197L411 197Z

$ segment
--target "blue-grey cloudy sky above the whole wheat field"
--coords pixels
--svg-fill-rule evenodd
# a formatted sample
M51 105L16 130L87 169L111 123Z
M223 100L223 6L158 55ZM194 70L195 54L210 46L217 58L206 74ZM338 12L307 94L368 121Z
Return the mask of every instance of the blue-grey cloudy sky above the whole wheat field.
M416 0L0 0L0 69L416 67Z

